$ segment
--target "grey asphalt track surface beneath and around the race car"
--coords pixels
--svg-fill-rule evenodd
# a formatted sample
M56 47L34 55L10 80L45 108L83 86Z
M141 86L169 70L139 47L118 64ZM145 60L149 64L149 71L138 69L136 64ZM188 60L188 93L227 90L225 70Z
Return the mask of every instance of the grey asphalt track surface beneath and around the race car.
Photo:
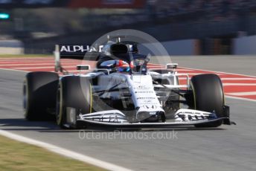
M192 58L179 60L186 60L187 65L182 65L184 67L191 67L194 62ZM226 60L228 63L231 58ZM256 63L255 59L250 60L250 63ZM200 58L197 60L196 68L208 69L205 66L208 64L202 61ZM255 76L255 67L241 65L239 73L235 68L231 70L231 67L225 65L218 70L211 70ZM237 126L221 126L217 129L142 129L136 133L135 130L113 132L111 129L88 129L79 136L79 131L61 130L51 122L24 120L24 76L25 72L22 71L0 69L0 129L131 170L256 170L255 101L226 99L227 105L231 107L231 120ZM171 133L174 133L173 136ZM107 135L109 138L106 138Z

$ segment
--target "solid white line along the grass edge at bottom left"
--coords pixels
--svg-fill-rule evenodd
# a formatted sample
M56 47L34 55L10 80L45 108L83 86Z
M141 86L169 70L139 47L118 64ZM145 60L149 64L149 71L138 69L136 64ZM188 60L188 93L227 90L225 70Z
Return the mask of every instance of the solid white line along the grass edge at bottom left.
M29 143L29 144L32 144L34 146L40 146L44 149L48 149L49 151L51 152L55 152L59 155L63 155L65 157L68 157L68 158L74 158L78 161L83 161L87 164L92 164L92 165L95 165L97 167L100 167L100 168L103 168L105 170L115 170L115 171L131 171L127 168L124 168L124 167L119 167L115 164L110 164L106 161L100 161L96 158L91 158L87 155L82 155L80 153L77 153L77 152L72 152L68 149L63 149L59 146L54 146L52 145L51 143L45 143L45 142L42 142L42 141L36 141L36 140L33 140L32 138L26 138L26 137L23 137L21 135L16 135L16 134L13 134L11 132L7 132L7 131L4 131L4 130L1 130L0 129L0 135L4 136L4 137L7 137L7 138L10 138L10 139L13 139L13 140L16 140L16 141L20 141L20 142L24 142L24 143Z

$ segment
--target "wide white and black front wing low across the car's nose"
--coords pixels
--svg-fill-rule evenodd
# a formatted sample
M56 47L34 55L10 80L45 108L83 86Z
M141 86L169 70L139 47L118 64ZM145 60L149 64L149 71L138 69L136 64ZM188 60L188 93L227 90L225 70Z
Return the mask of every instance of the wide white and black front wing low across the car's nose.
M125 114L118 110L109 110L104 112L94 112L91 114L79 114L77 122L92 124L97 126L114 127L159 127L159 126L194 126L202 123L212 123L223 120L224 124L235 124L229 120L229 117L217 117L210 112L202 112L191 109L179 109L171 120L165 122L138 122L129 123Z

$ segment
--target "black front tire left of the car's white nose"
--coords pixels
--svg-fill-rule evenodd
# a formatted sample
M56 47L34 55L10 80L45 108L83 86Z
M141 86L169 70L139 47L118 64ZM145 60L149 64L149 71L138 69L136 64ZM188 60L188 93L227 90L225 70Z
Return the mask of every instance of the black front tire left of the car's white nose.
M80 112L82 114L92 112L91 83L86 77L63 77L57 92L57 124L62 129L80 129L81 126L76 120L77 114ZM70 122L72 119L68 119L71 117L73 118L72 122Z

